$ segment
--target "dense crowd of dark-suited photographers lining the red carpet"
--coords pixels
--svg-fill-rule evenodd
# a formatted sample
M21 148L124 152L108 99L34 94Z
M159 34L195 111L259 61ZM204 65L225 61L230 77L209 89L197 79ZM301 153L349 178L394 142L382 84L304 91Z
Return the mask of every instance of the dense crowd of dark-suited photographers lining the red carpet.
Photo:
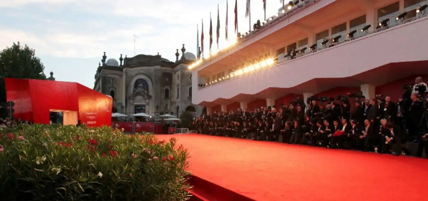
M306 103L295 98L279 108L238 109L213 112L196 118L189 129L213 136L247 138L290 144L322 146L402 155L404 143L419 143L417 155L428 156L426 84L405 86L402 98L376 95L366 100L359 93L336 98L310 97ZM355 98L351 111L349 98ZM306 112L305 112L306 111Z

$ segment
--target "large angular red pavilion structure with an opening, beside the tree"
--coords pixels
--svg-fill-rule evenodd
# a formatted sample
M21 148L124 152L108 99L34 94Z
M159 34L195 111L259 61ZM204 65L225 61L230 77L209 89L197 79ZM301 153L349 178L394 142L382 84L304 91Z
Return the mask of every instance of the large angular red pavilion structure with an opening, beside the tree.
M112 99L78 83L13 78L5 82L7 101L15 102L16 118L50 124L51 109L70 110L77 111L88 127L111 125Z

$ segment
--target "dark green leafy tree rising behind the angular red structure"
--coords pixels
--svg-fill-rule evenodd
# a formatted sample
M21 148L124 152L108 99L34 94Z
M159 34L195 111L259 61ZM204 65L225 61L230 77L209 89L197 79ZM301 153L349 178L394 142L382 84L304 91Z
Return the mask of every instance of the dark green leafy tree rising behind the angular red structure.
M36 56L36 51L27 45L13 43L12 47L0 52L0 104L6 102L6 87L4 78L27 78L45 80L45 66ZM0 117L6 116L6 111L0 109Z

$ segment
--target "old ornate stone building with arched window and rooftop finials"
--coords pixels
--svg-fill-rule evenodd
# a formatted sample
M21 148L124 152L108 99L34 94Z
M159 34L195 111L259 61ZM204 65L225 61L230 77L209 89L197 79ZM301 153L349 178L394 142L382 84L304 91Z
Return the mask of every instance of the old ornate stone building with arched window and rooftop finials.
M128 117L144 112L155 118L170 114L179 117L189 111L200 116L202 106L192 104L192 76L188 65L196 57L192 53L175 53L171 62L159 55L137 55L107 59L106 54L98 64L94 90L113 98L113 112Z

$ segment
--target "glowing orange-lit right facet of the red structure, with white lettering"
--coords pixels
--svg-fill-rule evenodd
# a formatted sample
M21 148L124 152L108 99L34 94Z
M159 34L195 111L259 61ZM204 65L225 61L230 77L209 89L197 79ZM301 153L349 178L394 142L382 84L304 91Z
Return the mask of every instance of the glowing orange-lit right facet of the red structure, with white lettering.
M112 98L77 84L79 118L88 127L110 126Z

